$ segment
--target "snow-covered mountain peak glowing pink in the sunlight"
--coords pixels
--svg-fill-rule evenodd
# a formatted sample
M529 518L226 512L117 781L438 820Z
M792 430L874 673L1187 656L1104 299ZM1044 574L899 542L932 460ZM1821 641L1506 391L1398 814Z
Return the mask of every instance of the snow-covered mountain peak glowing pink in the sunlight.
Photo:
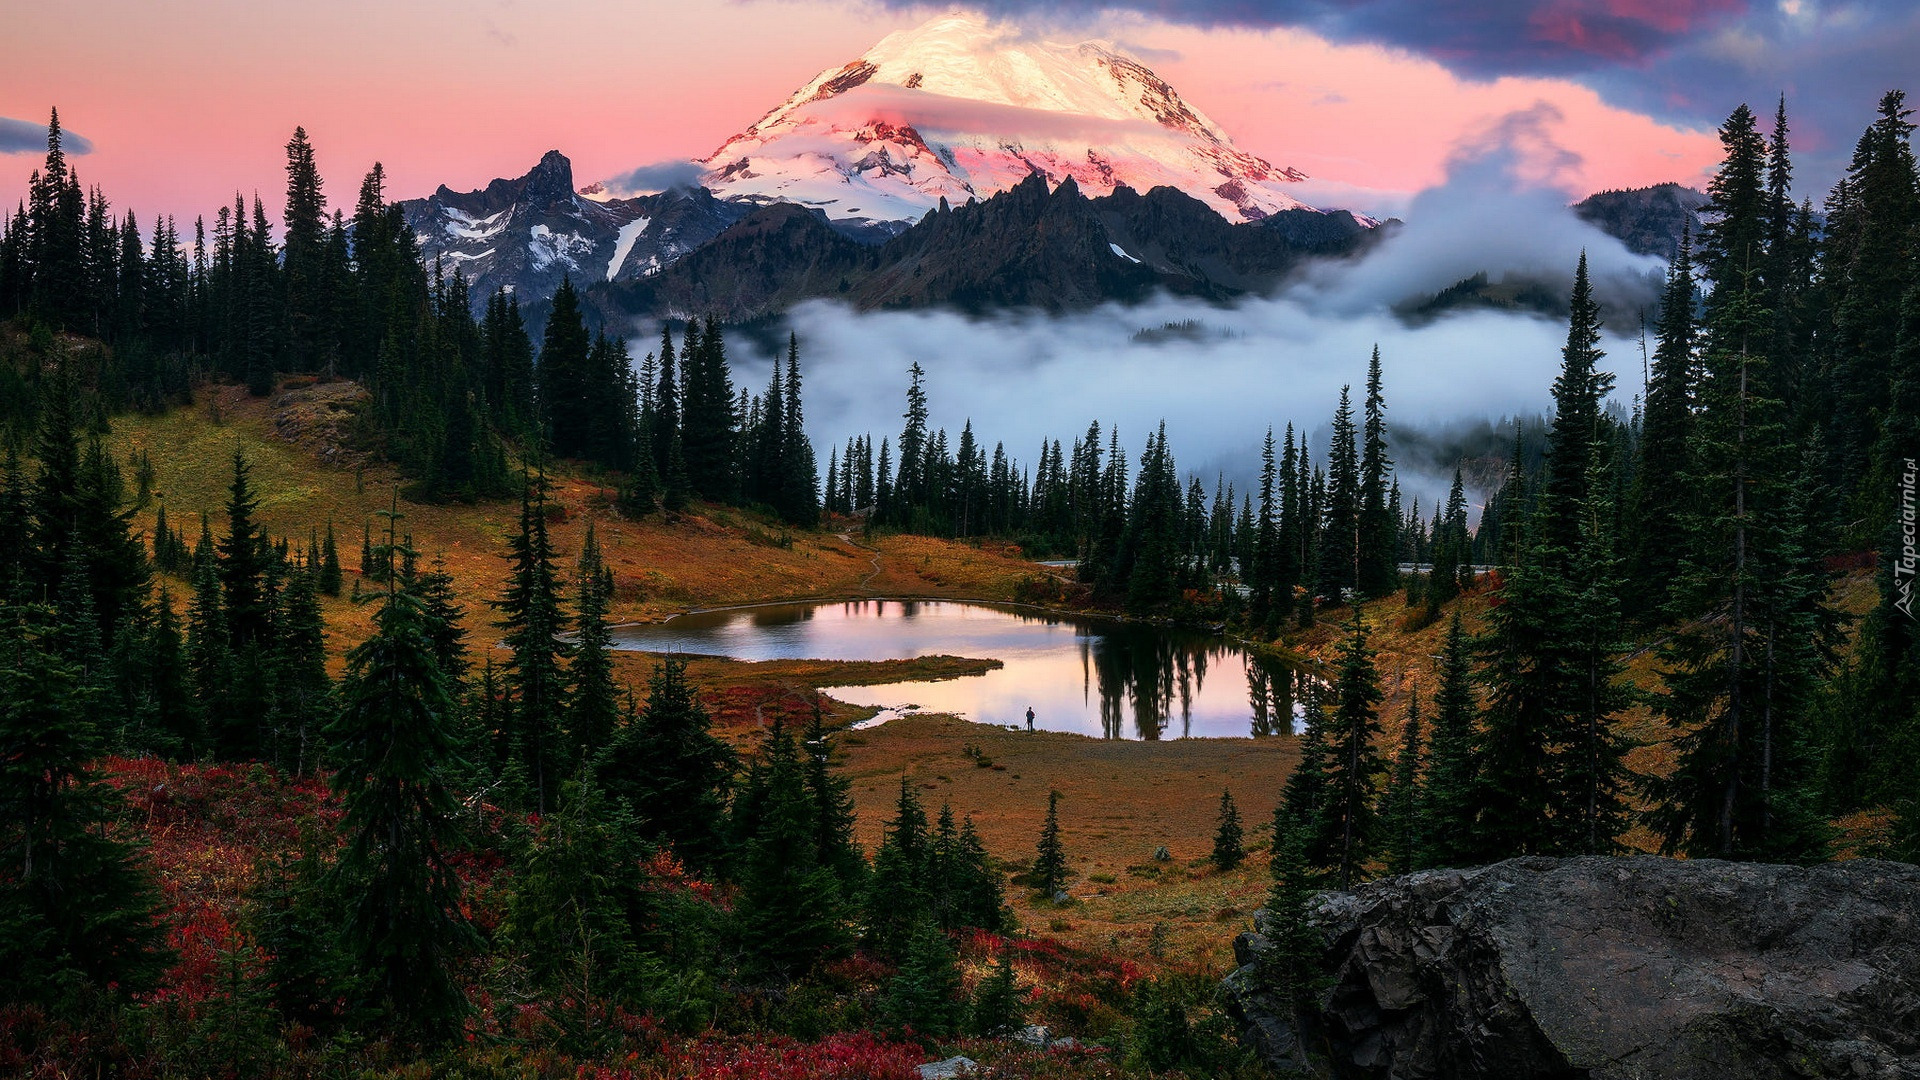
M845 223L914 221L1033 173L1089 196L1173 186L1233 221L1304 204L1304 179L1227 138L1110 42L1048 42L970 13L885 37L701 161L722 198Z

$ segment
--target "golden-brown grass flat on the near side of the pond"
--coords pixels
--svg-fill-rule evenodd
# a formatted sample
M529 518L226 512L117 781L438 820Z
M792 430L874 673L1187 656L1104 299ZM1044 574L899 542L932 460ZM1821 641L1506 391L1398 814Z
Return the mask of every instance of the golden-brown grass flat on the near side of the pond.
M881 838L906 776L935 815L950 803L973 815L987 849L1023 865L1060 792L1060 832L1075 897L1066 907L1010 890L1023 926L1060 940L1148 957L1154 924L1167 957L1221 963L1240 915L1265 896L1265 855L1233 874L1204 859L1213 851L1221 790L1240 807L1248 846L1273 819L1298 761L1288 738L1096 740L1068 732L1006 730L956 717L916 715L841 738L845 774L860 811L858 836ZM977 748L979 757L964 753ZM985 759L991 765L979 765ZM1154 851L1165 847L1167 861ZM1129 871L1131 867L1131 871ZM1054 922L1068 928L1054 930Z

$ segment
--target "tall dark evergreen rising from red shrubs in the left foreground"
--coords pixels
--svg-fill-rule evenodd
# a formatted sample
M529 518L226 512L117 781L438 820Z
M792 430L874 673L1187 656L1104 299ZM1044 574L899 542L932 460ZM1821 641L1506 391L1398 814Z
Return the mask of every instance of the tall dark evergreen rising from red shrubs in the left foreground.
M388 557L396 517L382 544ZM432 617L409 582L390 577L376 601L372 636L348 653L340 717L326 732L348 836L334 880L349 897L348 951L380 1007L438 1042L468 1013L453 967L480 945L447 863L459 844L447 790L457 705L434 663Z

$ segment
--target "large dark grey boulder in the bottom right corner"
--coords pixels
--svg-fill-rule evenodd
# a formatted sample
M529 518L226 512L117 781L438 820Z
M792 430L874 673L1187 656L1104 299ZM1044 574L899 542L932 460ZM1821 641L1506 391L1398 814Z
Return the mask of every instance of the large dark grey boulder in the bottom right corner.
M1331 984L1229 999L1275 1065L1392 1080L1920 1078L1920 867L1513 859L1323 894Z

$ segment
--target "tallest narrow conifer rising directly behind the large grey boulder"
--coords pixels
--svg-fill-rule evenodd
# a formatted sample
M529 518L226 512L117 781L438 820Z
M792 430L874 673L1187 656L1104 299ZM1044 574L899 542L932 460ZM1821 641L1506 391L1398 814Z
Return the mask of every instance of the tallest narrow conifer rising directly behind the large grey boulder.
M1761 352L1772 313L1757 246L1764 192L1753 117L1722 125L1726 160L1709 194L1726 211L1703 258L1715 292L1703 327L1705 371L1693 419L1682 577L1672 592L1680 630L1663 646L1659 711L1676 732L1672 774L1653 778L1649 824L1665 851L1738 859L1820 857L1822 838L1795 819L1793 717L1820 671L1822 592L1805 521L1807 484L1788 454L1772 367Z

